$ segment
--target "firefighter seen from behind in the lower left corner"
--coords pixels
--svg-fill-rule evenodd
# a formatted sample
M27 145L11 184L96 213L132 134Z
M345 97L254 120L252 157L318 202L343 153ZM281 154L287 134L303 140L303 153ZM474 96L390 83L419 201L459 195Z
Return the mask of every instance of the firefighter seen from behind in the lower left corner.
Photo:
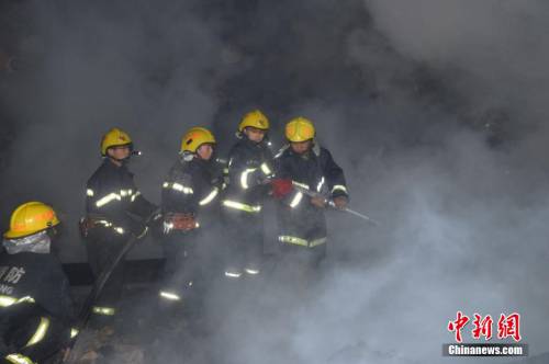
M55 255L59 220L40 202L19 206L0 255L0 357L44 363L68 348L74 323L68 280Z

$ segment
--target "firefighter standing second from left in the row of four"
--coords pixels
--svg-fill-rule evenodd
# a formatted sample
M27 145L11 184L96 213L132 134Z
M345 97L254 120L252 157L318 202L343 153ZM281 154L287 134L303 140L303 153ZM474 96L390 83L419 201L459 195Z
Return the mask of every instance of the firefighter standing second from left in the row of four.
M189 129L163 184L166 265L159 296L165 300L187 300L184 296L203 288L209 278L205 270L212 266L210 244L215 239L206 237L215 229L219 197L224 189L222 166L213 158L214 147L215 138L209 129Z

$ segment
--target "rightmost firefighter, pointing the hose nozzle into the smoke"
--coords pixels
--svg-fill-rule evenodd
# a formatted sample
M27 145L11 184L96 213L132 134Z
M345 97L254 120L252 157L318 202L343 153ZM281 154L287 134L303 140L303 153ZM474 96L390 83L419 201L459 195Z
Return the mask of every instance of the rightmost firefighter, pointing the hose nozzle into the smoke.
M273 195L280 197L278 239L283 253L309 268L316 268L326 254L326 203L333 201L341 209L347 206L344 171L315 139L310 120L290 121L285 137L289 145L276 157L277 180L272 182ZM314 192L314 195L292 186Z

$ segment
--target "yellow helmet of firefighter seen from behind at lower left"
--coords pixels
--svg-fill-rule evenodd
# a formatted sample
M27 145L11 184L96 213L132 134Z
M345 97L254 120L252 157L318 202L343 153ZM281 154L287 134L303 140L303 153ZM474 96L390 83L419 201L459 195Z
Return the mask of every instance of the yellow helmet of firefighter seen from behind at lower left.
M11 214L10 229L3 235L7 239L22 238L59 224L54 209L41 202L22 204Z

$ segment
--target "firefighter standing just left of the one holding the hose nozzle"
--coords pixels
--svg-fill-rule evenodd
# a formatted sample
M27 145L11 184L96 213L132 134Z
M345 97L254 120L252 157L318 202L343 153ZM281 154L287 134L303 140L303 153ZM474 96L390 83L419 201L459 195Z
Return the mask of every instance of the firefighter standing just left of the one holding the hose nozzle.
M254 276L260 272L264 252L264 200L272 177L272 152L267 138L269 120L255 110L238 125L239 140L228 153L229 184L223 201L231 251L225 275Z

